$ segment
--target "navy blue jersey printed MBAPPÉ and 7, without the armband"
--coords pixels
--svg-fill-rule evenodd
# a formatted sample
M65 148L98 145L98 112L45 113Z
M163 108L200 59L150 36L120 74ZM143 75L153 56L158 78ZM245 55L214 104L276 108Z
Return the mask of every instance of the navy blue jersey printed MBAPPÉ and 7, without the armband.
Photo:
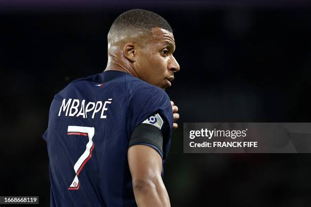
M51 206L136 206L129 140L141 123L162 119L167 159L173 125L168 95L128 73L105 71L71 82L55 95L44 134ZM163 168L164 169L164 168ZM163 178L162 171L162 178Z

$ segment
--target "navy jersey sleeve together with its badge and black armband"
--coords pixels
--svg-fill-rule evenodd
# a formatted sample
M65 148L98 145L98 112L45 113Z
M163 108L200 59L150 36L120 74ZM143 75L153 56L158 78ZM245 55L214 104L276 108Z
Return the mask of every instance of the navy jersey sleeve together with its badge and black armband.
M173 112L167 94L155 86L137 90L129 102L129 117L129 147L149 145L165 159L166 144L173 125Z

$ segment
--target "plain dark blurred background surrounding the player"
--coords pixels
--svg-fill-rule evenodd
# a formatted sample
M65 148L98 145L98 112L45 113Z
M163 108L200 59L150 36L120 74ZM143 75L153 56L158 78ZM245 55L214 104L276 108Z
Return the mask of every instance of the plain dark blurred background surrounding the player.
M166 165L172 206L310 206L309 154L183 154L183 122L311 122L311 4L305 1L2 1L0 195L49 206L42 134L53 96L107 64L107 34L129 9L171 24L179 107Z

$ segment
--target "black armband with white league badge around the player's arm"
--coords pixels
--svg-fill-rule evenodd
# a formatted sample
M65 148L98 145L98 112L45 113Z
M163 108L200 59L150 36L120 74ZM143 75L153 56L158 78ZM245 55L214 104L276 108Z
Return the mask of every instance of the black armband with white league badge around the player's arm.
M155 118L155 121L152 120L152 117ZM151 116L151 120L149 117L146 121L134 129L129 142L129 147L139 144L148 145L157 150L161 157L163 157L163 134L161 131L162 125L163 120L159 114Z

